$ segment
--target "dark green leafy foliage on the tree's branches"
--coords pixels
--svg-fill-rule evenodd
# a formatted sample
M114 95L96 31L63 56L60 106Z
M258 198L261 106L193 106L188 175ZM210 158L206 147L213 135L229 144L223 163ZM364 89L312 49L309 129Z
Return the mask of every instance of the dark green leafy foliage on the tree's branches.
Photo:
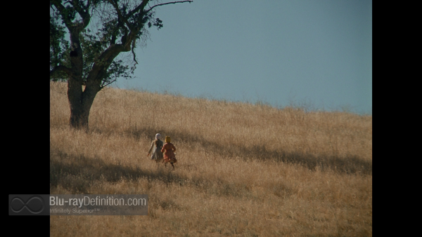
M53 1L51 1L52 3ZM94 65L101 65L101 60L98 58L104 51L113 44L117 43L131 43L133 60L122 60L116 57L108 67L105 74L101 74L101 87L113 83L119 78L132 78L136 69L136 55L134 48L136 42L141 43L141 46L146 45L149 32L147 30L151 27L160 29L163 27L162 20L154 18L154 11L135 12L136 3L139 1L114 1L117 4L120 14L109 1L78 1L79 6L84 10L88 9L90 15L90 22L87 27L82 29L79 34L79 43L82 48L82 81L87 81L89 72ZM70 45L69 39L65 39L71 32L68 32L67 27L75 26L82 22L82 16L79 15L77 7L73 6L71 1L60 1L64 8L58 11L56 6L51 5L50 9L50 70L59 65L70 68L70 51L73 45ZM80 10L80 9L79 9ZM122 19L124 18L124 19ZM129 24L128 24L129 23ZM134 30L135 29L135 30ZM139 29L139 31L136 31ZM136 33L134 42L126 42L129 32ZM68 32L68 34L66 34ZM129 65L131 65L129 67ZM67 81L68 76L64 72L58 72L50 78L51 81Z

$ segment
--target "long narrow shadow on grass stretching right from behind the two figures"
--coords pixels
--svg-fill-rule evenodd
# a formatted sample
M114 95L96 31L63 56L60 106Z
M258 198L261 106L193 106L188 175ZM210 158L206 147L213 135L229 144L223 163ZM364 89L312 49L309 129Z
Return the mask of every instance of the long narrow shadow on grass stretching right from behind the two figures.
M301 152L283 152L283 151L269 151L264 146L255 147L239 147L239 146L222 146L215 142L209 142L203 137L197 135L190 135L188 133L177 133L172 130L160 130L157 131L155 128L132 128L126 130L127 135L131 135L136 140L140 137L152 136L155 133L160 132L162 135L171 135L174 141L188 142L190 144L199 144L204 147L205 150L217 153L219 156L240 156L245 160L259 159L261 161L272 160L280 161L283 163L294 163L302 165L309 170L315 170L319 167L321 170L334 170L335 172L341 173L360 173L362 175L372 175L372 162L365 161L358 156L316 156L314 154L302 154Z

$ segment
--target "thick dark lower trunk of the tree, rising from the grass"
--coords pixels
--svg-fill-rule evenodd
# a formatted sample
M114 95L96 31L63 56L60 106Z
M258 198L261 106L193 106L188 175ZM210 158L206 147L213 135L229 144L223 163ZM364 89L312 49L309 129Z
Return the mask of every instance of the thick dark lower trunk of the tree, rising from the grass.
M68 80L68 100L70 104L70 127L89 130L89 111L100 86L87 83L82 91L82 80Z

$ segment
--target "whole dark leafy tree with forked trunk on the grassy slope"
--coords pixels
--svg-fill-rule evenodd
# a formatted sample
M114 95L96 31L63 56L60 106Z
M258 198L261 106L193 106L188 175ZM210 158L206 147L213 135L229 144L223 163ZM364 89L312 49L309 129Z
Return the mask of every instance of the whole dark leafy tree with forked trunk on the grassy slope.
M192 1L153 6L148 0L50 1L50 80L68 83L72 128L89 128L89 110L98 91L117 78L132 78L136 43L145 45L148 28L162 27L154 8L184 2ZM122 52L132 52L132 67L117 60Z

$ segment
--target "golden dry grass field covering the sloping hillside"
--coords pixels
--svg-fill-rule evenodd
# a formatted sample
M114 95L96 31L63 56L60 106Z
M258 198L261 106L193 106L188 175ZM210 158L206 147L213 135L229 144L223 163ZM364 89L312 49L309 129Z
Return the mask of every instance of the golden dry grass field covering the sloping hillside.
M372 236L372 116L106 88L84 133L66 90L51 194L148 194L148 215L51 216L51 236ZM146 157L155 133L174 170Z

